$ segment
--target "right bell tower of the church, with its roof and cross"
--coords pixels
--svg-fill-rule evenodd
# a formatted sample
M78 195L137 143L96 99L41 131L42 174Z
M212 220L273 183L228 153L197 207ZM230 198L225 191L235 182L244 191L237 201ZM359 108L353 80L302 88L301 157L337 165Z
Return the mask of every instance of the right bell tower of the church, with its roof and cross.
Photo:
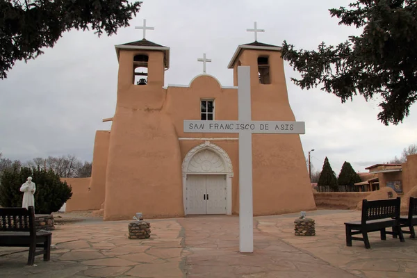
M256 22L247 31L254 32L255 41L240 44L228 67L234 70L237 86L238 66L250 66L252 120L295 121L288 101L281 47L259 42L258 33L264 30L258 29ZM254 215L291 211L294 204L288 200L297 196L305 197L306 211L316 208L298 134L254 134L252 152ZM277 199L279 202L274 202Z

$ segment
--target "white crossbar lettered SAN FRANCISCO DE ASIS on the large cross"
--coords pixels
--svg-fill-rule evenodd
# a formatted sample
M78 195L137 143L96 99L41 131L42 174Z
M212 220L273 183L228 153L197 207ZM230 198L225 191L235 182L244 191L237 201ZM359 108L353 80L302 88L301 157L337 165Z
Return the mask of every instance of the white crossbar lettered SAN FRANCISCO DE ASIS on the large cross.
M289 121L184 121L186 133L288 133L304 134L304 122Z

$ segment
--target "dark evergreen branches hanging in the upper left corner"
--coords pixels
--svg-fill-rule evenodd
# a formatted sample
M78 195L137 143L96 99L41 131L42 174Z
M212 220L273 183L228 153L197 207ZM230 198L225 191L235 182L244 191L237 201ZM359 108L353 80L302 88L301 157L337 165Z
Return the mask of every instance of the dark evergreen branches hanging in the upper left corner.
M0 79L16 60L43 53L66 31L91 28L113 35L139 12L141 1L0 0Z

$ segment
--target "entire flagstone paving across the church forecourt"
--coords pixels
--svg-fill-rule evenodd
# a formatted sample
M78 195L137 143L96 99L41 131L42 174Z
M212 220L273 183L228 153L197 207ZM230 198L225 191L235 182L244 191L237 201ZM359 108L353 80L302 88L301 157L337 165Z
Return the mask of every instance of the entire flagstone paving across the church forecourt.
M316 236L294 236L297 214L254 219L254 253L238 252L238 217L149 220L147 240L129 240L130 221L57 226L51 261L27 266L27 249L0 247L0 277L417 277L417 240L370 234L371 249L345 246L343 222L359 211L314 211Z

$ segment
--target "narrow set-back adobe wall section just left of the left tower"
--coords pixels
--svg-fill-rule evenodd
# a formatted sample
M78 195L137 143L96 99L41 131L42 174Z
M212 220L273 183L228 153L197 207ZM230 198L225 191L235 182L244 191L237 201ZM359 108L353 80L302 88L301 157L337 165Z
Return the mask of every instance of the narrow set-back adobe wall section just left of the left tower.
M90 182L90 202L94 209L99 209L104 202L109 143L110 131L96 131Z

